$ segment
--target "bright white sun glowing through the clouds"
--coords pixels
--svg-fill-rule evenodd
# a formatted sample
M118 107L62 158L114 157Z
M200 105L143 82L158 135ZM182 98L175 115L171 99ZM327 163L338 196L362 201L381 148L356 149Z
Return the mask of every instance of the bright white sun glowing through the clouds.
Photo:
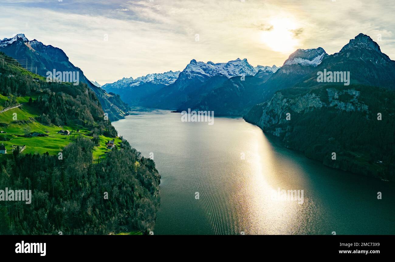
M290 53L297 49L299 40L294 38L295 21L289 18L277 18L270 21L271 27L261 33L261 41L271 50Z

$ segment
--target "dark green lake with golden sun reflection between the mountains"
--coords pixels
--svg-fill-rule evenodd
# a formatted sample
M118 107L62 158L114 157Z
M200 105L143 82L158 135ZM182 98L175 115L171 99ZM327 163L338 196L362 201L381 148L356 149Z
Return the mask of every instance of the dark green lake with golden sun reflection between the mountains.
M394 183L328 168L241 118L151 111L113 125L162 175L154 234L395 234ZM303 204L273 199L278 188Z

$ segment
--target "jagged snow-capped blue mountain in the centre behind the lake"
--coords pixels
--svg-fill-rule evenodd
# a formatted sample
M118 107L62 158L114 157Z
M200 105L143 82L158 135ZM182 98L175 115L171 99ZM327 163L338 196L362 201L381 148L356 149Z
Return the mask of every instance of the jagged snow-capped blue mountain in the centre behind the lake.
M269 66L254 67L245 58L237 58L226 63L213 63L211 61L205 63L192 59L173 84L163 87L151 96L147 96L141 101L141 105L166 109L194 105L201 100L200 97L212 94L211 92L221 87L220 85L227 83L224 84L223 88L228 86L233 81L228 81L229 79L242 79L242 76L243 79L248 78L248 76L256 75L260 69L275 72L278 68L276 66L273 66L273 68ZM262 80L259 81L263 82Z

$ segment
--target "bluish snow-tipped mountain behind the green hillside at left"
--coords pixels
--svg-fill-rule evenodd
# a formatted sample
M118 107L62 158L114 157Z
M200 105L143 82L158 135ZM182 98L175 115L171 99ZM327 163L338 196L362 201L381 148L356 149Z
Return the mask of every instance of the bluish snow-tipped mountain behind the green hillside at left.
M74 66L67 55L57 47L44 45L36 39L29 41L24 34L17 34L13 38L4 38L0 41L0 51L6 55L17 59L17 61L30 71L47 77L47 72L79 72L79 81L86 83L99 99L105 113L109 119L117 120L123 118L123 113L129 110L120 97L115 94L108 94L103 89L92 84L83 71Z

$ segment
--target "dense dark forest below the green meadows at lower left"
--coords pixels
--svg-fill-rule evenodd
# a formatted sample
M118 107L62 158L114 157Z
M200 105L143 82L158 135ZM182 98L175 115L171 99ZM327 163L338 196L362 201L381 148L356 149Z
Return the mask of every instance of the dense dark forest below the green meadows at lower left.
M0 188L32 190L31 204L0 202L0 234L109 234L152 230L160 175L126 140L99 163L78 139L58 156L15 155L0 164ZM105 199L108 196L108 199Z

